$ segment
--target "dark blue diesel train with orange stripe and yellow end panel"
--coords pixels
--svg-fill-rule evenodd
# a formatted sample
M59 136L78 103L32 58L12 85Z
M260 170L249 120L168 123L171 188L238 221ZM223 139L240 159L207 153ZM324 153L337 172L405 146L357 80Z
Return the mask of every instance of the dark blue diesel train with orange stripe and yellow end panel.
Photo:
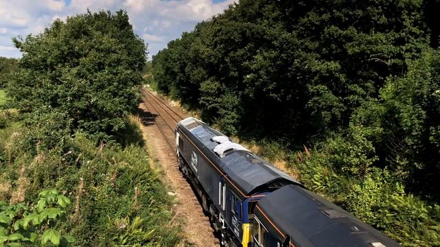
M399 246L203 121L180 121L175 140L222 246Z

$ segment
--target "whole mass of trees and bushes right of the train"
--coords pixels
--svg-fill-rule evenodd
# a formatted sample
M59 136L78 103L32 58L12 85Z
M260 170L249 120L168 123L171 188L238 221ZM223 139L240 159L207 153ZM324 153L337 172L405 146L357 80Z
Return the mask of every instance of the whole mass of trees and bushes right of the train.
M438 10L242 0L154 56L153 83L228 134L285 145L305 185L402 244L440 246Z

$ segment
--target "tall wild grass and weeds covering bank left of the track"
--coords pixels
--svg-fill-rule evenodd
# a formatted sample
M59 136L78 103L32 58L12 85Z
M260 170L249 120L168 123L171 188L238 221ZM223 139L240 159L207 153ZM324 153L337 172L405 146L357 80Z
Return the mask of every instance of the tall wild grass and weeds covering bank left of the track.
M131 126L133 127L133 126ZM77 132L52 143L20 124L0 128L0 200L16 204L54 188L72 201L63 233L73 246L175 246L173 198L148 164L143 145L98 145ZM47 133L45 133L47 134ZM55 133L55 137L56 137ZM37 141L36 141L37 140Z

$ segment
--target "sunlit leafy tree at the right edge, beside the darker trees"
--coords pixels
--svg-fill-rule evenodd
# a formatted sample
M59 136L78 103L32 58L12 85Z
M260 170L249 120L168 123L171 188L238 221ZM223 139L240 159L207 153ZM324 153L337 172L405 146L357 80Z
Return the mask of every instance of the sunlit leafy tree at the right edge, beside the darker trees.
M408 60L408 73L389 78L378 100L358 108L356 126L371 133L371 141L411 191L432 200L440 198L440 52L423 51Z

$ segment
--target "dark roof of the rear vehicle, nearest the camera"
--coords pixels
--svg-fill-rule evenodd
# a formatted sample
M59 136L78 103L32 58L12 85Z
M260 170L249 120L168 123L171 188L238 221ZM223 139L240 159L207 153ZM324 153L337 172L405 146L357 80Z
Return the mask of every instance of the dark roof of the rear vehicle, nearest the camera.
M289 235L294 246L399 246L347 211L297 186L270 193L257 203L254 213L280 239Z

